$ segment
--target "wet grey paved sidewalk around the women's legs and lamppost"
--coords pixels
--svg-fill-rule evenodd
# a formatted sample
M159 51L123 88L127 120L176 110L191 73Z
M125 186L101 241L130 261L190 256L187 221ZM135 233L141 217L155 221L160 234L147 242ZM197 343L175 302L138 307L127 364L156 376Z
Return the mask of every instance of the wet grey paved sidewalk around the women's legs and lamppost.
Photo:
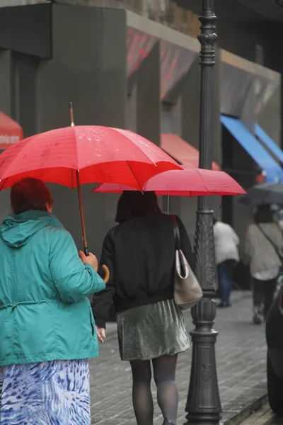
M222 422L233 418L266 394L265 327L256 326L251 321L250 293L234 293L232 300L230 309L217 310L214 325L214 329L219 331L216 359L223 409ZM187 329L193 329L190 313L186 314L186 322ZM189 351L181 354L178 361L178 424L185 422L190 359ZM131 372L129 363L120 361L115 324L109 325L108 339L100 346L100 358L92 360L90 366L92 424L134 425ZM161 414L156 407L155 424L161 423ZM238 421L233 421L235 423L238 424Z

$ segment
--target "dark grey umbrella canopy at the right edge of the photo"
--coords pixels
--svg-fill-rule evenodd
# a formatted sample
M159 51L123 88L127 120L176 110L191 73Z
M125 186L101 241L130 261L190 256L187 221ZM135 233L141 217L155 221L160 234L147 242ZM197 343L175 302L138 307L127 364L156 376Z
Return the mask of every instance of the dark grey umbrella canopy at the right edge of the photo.
M240 202L250 207L283 205L283 183L257 184L248 190L246 196L241 197Z

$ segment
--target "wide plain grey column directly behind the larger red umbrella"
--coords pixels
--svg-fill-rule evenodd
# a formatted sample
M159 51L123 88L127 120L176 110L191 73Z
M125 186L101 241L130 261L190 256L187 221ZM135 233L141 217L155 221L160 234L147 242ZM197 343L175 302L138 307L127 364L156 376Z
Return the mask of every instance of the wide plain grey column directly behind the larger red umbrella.
M115 40L115 42L113 42ZM37 76L37 131L70 124L69 101L76 125L126 123L125 11L83 6L52 6L52 61ZM114 225L117 196L82 188L89 250L100 255ZM53 185L54 212L82 246L76 191Z

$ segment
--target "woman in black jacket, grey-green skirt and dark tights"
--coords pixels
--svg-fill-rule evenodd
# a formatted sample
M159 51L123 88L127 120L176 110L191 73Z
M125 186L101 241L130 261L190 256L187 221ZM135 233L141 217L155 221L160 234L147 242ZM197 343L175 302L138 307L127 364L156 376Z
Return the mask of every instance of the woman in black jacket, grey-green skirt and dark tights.
M190 241L177 217L183 252L195 270ZM156 194L122 193L118 225L106 235L100 263L110 270L103 292L93 296L98 339L105 339L105 322L112 300L117 312L120 356L132 368L132 402L138 425L153 425L151 363L163 425L175 425L178 353L190 346L183 312L173 300L175 239L173 221L158 208Z

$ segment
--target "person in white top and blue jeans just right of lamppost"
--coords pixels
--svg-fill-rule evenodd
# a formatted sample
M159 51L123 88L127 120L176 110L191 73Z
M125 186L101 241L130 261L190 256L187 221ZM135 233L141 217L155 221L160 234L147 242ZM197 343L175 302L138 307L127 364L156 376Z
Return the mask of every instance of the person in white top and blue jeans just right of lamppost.
M221 302L218 307L230 307L230 294L233 285L233 269L239 261L240 240L231 226L213 219L215 258Z

